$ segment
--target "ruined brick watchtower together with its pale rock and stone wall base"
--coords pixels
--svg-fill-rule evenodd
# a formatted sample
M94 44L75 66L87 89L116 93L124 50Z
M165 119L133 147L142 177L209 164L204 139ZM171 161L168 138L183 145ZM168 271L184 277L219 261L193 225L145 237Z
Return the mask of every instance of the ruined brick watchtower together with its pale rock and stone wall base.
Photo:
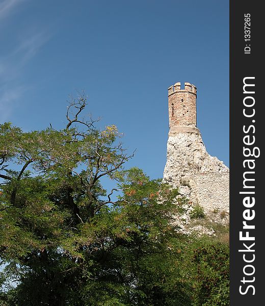
M164 181L178 187L191 207L201 206L206 215L219 213L221 220L229 213L229 169L205 149L196 127L196 97L197 89L190 83L184 83L184 89L179 82L168 89L170 130Z

